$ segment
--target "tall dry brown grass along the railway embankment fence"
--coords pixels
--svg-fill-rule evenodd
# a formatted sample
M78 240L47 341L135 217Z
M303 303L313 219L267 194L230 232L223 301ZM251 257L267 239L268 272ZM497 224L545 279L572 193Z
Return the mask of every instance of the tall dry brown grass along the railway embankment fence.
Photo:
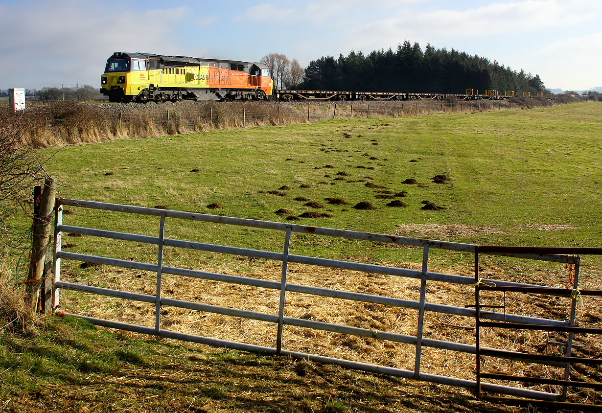
M306 123L333 118L362 119L421 116L431 113L471 113L548 107L561 103L569 102L523 97L512 98L509 101L448 99L337 104L332 102L181 102L92 105L67 101L29 107L14 116L19 116L27 125L23 133L24 143L33 144L35 147L58 147L213 129Z

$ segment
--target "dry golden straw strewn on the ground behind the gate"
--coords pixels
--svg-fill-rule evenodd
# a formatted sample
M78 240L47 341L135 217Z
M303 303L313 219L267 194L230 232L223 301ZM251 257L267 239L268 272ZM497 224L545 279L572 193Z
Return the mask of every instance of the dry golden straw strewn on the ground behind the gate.
M391 264L385 263L385 265ZM420 264L405 263L398 266L420 269ZM245 270L234 270L228 265L210 270L273 281L279 281L281 275L281 266L276 262L249 261ZM104 284L106 287L149 295L155 294L156 275L152 273L112 268L93 269L93 271L96 279L106 281ZM481 275L485 278L518 281L513 271L483 265ZM598 284L595 287L589 285L588 288L600 288L599 276L594 276L591 269L589 271L587 279L598 280ZM447 269L447 272L471 276L473 269L467 265L455 267L451 271ZM584 272L587 273L588 270L584 269ZM67 279L78 277L76 274L69 273L65 276ZM550 285L550 280L555 280L555 286L560 286L566 281L566 278L566 270L561 265L555 272L535 270L529 280L522 279L521 281ZM301 264L289 264L287 282L408 300L418 300L420 294L420 280L417 279ZM162 294L166 297L193 302L278 314L279 291L277 290L164 275ZM500 294L489 293L482 294L482 300L486 300L489 305L500 305L504 302L504 297ZM474 303L474 287L429 282L426 301L459 307L471 305ZM506 311L509 313L558 320L567 319L570 307L569 299L547 296L526 297L520 294L507 294L505 303ZM146 303L69 292L64 294L61 305L68 312L145 326L154 326L155 321L154 305ZM581 323L595 326L600 323L601 311L602 305L599 301L584 297L583 302L579 305L578 325ZM290 292L287 292L286 296L285 316L406 335L416 334L418 319L417 311L411 309ZM276 324L207 312L163 306L161 328L261 346L275 347L276 345ZM474 345L474 320L468 317L427 312L424 321L424 337ZM546 346L548 335L538 331L483 329L481 337L482 346L530 353L560 354L557 347ZM551 341L563 340L562 337L554 334L551 334L549 339ZM283 340L283 348L288 350L408 370L414 369L415 346L409 344L292 326L284 326ZM576 350L576 352L582 351L585 356L596 357L602 351L602 346L595 341L595 338L577 337L576 340L584 346L583 350ZM424 373L474 380L474 365L473 355L423 347L421 371ZM500 361L492 358L485 359L483 371L549 378L562 378L563 376L563 370L560 368ZM574 379L579 380L600 381L602 379L600 371L591 367L575 367L572 374ZM512 383L512 385L520 386L518 383ZM527 386L538 390L559 390L550 386L534 386L532 384L527 384ZM599 397L595 392L589 390L583 391L579 397L583 396L590 397L590 399Z

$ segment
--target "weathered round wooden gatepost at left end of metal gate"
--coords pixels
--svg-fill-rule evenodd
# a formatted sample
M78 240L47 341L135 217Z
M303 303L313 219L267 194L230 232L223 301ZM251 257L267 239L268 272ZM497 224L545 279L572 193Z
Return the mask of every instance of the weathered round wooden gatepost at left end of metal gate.
M33 248L29 260L26 293L26 301L33 311L41 311L43 305L43 300L40 300L40 284L43 281L55 195L55 184L52 178L44 180L43 190L42 187L34 189Z

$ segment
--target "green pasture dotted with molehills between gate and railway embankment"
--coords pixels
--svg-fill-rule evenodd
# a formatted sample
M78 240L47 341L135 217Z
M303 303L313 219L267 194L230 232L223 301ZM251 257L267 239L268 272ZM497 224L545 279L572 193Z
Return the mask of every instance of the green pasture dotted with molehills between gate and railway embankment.
M294 223L385 234L393 233L402 223L491 226L501 234L447 240L599 246L601 113L602 105L589 103L474 114L329 120L120 140L64 147L47 169L63 185L60 195L76 199L164 205L172 210L217 211L226 216L288 222L274 212L287 208L299 215L311 210L293 200L304 196L325 205L320 211L334 217ZM345 133L350 137L344 137ZM378 159L369 160L364 154ZM334 169L324 169L327 164ZM199 172L190 172L193 169ZM354 181L371 176L371 182L386 190L406 190L409 194L402 200L408 206L387 207L389 200L375 199L376 192L366 188L364 182L335 181L337 172L349 173L346 178ZM431 183L429 178L439 174L450 177L451 184ZM401 184L406 178L417 179L427 187ZM312 186L304 189L301 184ZM292 188L285 191L284 197L259 193L278 190L282 185ZM340 197L350 205L328 205L325 197ZM425 199L447 209L423 211L421 201ZM372 202L378 209L351 208L360 201ZM214 202L224 208L206 208ZM158 219L70 209L73 214L65 217L68 225L149 235L158 232ZM532 225L575 228L541 231ZM169 219L166 237L277 251L284 244L278 232ZM66 242L72 241L66 238ZM73 242L80 252L93 252L103 246L119 258L135 255L154 261L155 250L149 246L93 243L86 238ZM417 249L308 235L293 235L291 248L294 253L370 262L416 261L421 255ZM465 259L458 253L439 255L437 258L434 253L441 265ZM168 265L199 265L209 259L216 256L166 250Z

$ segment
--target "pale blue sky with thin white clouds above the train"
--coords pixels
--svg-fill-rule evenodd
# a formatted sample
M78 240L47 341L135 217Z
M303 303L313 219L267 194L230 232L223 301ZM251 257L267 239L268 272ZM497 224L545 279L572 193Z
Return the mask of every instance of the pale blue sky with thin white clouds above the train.
M277 52L306 67L404 40L524 69L547 88L602 86L600 0L0 0L0 21L1 89L100 87L117 51L243 61Z

